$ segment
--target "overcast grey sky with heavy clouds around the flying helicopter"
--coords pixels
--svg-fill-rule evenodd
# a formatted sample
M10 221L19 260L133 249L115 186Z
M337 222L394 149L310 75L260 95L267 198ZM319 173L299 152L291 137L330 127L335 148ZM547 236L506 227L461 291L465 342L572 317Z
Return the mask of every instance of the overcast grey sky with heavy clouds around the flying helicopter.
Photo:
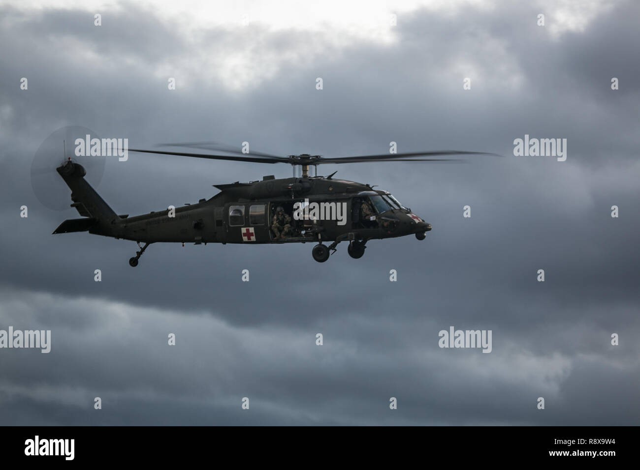
M0 1L0 329L52 336L49 354L0 349L0 423L637 424L638 17L634 1ZM78 215L46 207L30 169L70 125L131 147L504 157L321 168L392 192L433 225L421 242L322 264L310 244L154 244L132 269L134 242L51 235ZM525 134L567 139L566 161L515 157ZM132 153L87 178L134 215L291 176L193 160ZM492 352L440 349L450 326L492 330Z

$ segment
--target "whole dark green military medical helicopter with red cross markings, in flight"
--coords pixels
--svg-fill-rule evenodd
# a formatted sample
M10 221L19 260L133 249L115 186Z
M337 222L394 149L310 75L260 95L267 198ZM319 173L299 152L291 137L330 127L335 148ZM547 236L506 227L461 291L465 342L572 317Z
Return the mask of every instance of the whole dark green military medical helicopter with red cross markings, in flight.
M285 163L294 168L292 178L276 179L273 175L248 183L214 185L220 192L196 204L170 207L148 214L118 215L102 200L84 179L84 167L67 159L56 168L71 189L71 207L82 216L68 219L53 232L70 233L88 231L95 235L132 240L140 247L129 265L136 267L147 247L156 242L284 244L307 243L316 245L311 254L323 263L337 251L340 242L348 242L351 258L364 255L369 240L414 235L426 238L431 230L427 223L404 207L390 192L374 186L329 176L317 176L320 164L364 162L438 162L452 161L454 155L488 155L486 152L444 150L439 152L386 153L351 157L324 158L322 155L279 156L264 152L243 153L216 143L164 144L191 148L209 148L236 155L212 153L173 152L164 150L129 150L129 152L175 155L200 159L255 162L261 164ZM309 168L314 168L314 176ZM300 171L301 170L301 171ZM325 244L329 243L330 244ZM144 246L141 245L144 244Z

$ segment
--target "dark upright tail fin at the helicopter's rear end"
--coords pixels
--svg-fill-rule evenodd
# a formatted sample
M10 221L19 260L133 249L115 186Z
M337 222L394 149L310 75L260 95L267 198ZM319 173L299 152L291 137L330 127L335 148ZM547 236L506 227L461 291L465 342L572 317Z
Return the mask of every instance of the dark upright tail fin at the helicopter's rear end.
M56 168L56 171L60 173L62 179L65 180L67 186L70 187L71 200L74 201L71 207L75 207L80 215L90 217L93 219L93 223L99 223L100 225L110 225L114 219L119 218L118 215L113 212L113 209L100 198L100 194L95 192L95 189L86 182L84 179L86 171L82 165L67 161L65 164ZM93 225L93 223L86 225L87 228L85 230L88 230L88 226ZM80 226L77 227L79 228Z

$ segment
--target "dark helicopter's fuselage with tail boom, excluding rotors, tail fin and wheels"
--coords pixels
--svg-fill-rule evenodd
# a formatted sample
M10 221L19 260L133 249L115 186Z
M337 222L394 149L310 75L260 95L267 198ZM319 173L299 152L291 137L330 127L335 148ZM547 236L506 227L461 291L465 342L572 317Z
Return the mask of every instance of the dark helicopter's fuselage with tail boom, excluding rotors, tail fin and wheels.
M107 235L136 242L292 243L385 239L424 233L431 226L409 209L394 207L388 192L368 185L326 178L271 179L219 185L221 192L193 205L116 220ZM360 205L371 197L385 205L374 219L363 220ZM386 201L385 201L386 200ZM316 214L296 207L316 203ZM271 230L276 208L291 218L291 233L275 239ZM343 209L344 208L344 209ZM319 212L319 214L318 214ZM298 218L295 217L298 215ZM301 215L301 216L300 216ZM92 233L99 233L92 231Z

